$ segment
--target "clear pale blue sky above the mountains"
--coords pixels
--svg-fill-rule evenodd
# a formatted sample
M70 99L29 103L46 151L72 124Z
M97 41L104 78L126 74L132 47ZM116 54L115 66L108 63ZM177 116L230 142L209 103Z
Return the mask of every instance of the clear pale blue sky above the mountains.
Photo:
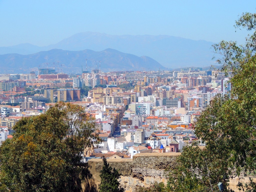
M73 34L171 35L194 40L244 41L233 27L256 1L12 1L0 0L0 47L55 44Z

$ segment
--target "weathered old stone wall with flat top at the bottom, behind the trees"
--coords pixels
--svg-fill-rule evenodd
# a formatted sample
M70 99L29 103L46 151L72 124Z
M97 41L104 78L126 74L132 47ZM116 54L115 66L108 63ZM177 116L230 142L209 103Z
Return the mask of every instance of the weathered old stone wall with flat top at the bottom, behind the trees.
M107 159L112 168L116 168L121 173L120 184L125 192L135 192L137 186L148 187L154 182L167 182L168 172L166 168L172 168L176 164L176 157L180 153L142 153L133 156L133 159ZM88 176L84 183L86 192L98 192L100 184L100 170L102 169L102 159L90 159ZM239 191L236 187L238 178L230 180L230 188ZM249 178L240 180L248 182Z

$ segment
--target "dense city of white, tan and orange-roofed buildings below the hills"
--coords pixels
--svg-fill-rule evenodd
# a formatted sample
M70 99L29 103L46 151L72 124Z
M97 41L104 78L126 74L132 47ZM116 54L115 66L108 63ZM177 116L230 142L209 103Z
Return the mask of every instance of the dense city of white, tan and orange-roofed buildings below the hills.
M40 115L55 102L83 106L104 142L84 159L132 158L137 153L180 152L197 140L192 123L217 94L229 94L229 77L217 70L1 74L1 142L24 116ZM200 145L204 145L200 142ZM90 149L91 150L91 149ZM117 154L117 155L116 155Z

